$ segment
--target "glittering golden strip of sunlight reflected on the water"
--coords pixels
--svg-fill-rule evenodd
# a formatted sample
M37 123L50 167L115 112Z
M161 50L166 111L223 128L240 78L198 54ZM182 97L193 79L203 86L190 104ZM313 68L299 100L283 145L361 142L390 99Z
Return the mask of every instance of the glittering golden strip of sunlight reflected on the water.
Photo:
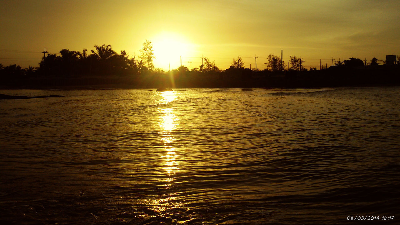
M158 112L161 113L161 117L159 119L160 131L158 134L160 135L160 141L164 143L164 152L161 157L163 159L164 164L162 165L163 171L166 173L166 178L164 182L164 189L170 189L172 186L172 182L175 180L174 175L179 170L178 164L176 163L176 158L178 155L175 152L174 146L174 137L172 135L172 131L176 129L178 125L176 121L179 119L176 117L174 107L165 107L166 104L172 102L176 98L176 93L174 91L165 91L157 93L160 95L160 99L158 101ZM175 207L179 207L180 204L176 202L175 193L169 193L165 198L156 199L154 204L157 205L154 208L154 211L162 212L167 209L172 209Z

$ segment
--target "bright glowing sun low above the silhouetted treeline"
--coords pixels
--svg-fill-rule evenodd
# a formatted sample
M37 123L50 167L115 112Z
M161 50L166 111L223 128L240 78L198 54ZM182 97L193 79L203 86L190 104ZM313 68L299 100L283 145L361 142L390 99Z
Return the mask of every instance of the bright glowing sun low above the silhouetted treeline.
M165 71L176 69L180 66L182 56L182 66L189 67L188 61L194 55L194 45L184 36L176 33L162 32L152 38L153 52L156 58L154 66Z

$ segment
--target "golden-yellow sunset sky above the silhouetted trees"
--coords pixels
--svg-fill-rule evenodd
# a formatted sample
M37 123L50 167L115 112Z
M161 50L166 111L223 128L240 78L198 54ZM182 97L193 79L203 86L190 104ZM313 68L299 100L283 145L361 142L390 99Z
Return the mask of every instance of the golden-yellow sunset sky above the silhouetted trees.
M398 0L92 1L3 0L0 63L38 66L44 47L82 51L111 44L131 58L152 41L156 68L220 69L242 56L265 68L268 54L302 57L306 68L350 57L384 60L400 54Z

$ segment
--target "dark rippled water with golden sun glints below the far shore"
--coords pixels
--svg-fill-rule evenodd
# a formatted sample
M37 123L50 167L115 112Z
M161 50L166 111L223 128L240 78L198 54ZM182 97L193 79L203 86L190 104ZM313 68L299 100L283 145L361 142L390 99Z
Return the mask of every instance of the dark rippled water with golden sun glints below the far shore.
M400 224L400 87L1 93L2 224Z

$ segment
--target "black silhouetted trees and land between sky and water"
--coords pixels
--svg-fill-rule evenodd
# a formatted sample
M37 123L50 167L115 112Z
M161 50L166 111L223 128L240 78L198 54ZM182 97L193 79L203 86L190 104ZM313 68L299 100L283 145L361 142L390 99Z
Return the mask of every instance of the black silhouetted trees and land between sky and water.
M270 54L266 69L244 68L242 58L233 58L232 65L220 70L210 58L189 70L181 66L164 72L154 68L152 44L143 43L138 58L128 58L111 45L95 45L71 51L62 49L60 55L48 54L39 66L22 69L14 64L0 64L1 88L158 88L158 87L317 87L348 85L399 85L399 67L373 58L368 65L358 58L337 62L335 66L316 70L304 68L304 60L290 56L286 64L279 56ZM398 62L398 61L396 61ZM383 64L382 64L383 63ZM380 65L382 64L382 65Z

